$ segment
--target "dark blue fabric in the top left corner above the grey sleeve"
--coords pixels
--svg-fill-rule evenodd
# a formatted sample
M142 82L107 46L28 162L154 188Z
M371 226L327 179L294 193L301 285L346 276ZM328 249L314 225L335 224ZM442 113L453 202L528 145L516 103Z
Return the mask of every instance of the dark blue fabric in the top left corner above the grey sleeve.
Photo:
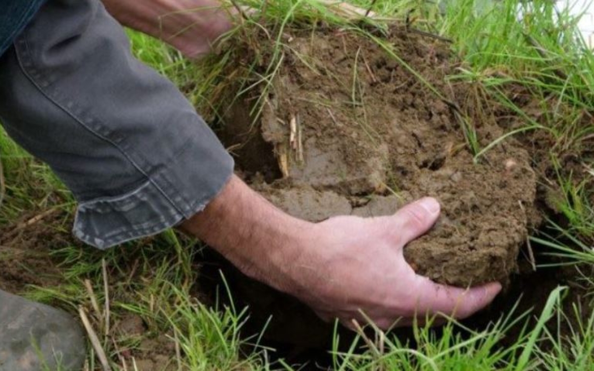
M0 55L29 23L45 0L0 1Z

